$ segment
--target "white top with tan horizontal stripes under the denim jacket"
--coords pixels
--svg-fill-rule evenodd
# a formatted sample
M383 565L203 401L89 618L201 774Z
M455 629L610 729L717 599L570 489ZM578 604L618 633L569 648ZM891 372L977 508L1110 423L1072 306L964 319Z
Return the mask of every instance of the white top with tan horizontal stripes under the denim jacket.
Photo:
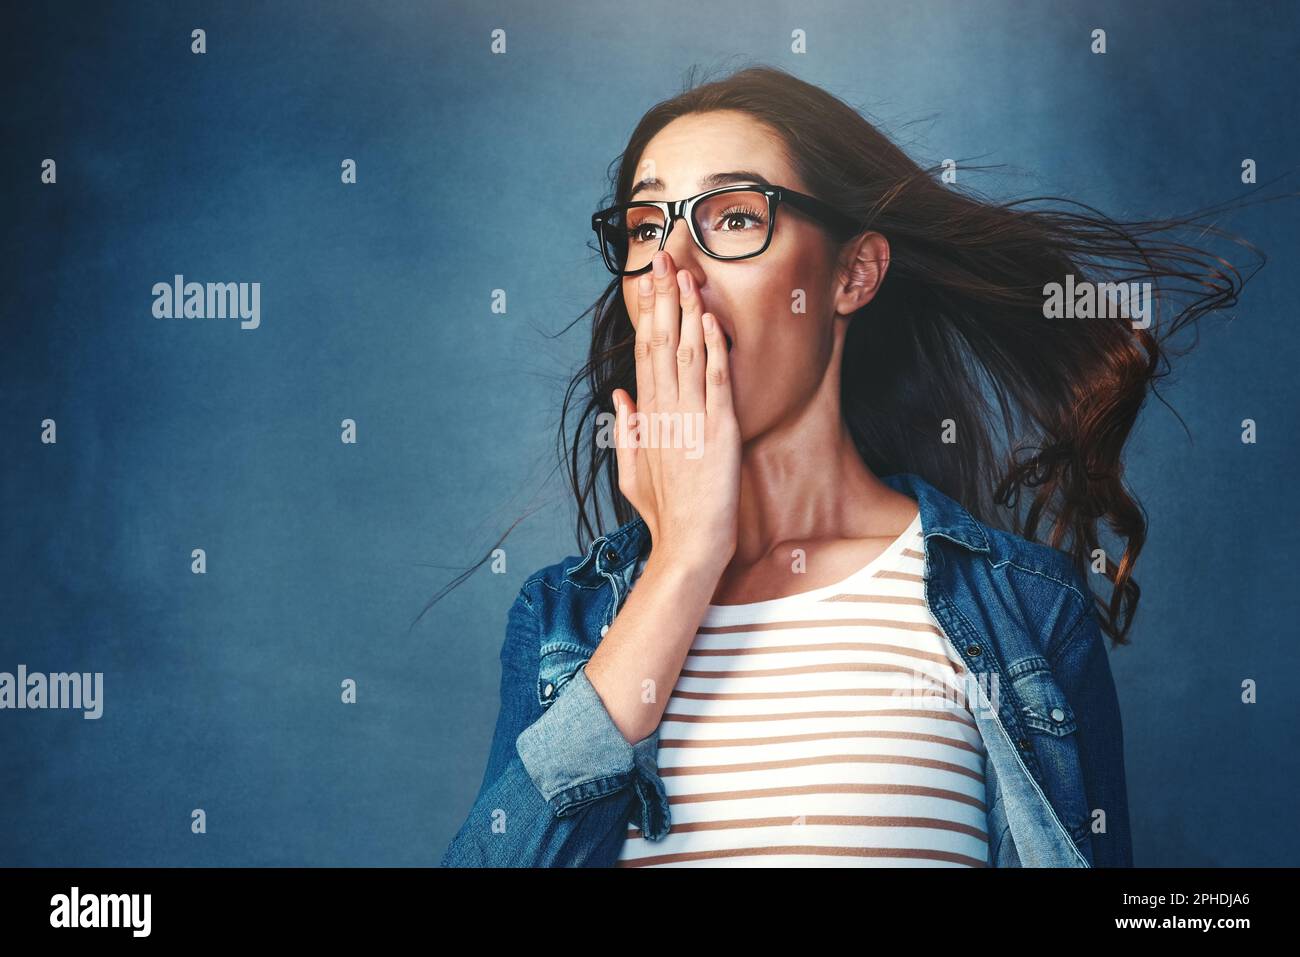
M920 515L848 579L710 605L659 724L672 828L620 867L984 867L984 746Z

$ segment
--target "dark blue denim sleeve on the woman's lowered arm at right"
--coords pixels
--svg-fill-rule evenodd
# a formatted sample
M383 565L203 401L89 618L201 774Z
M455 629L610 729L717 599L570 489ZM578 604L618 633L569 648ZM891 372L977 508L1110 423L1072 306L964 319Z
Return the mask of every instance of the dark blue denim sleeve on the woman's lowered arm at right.
M1091 596L1084 585L1084 594ZM1110 658L1089 605L1052 655L1061 690L1078 720L1079 762L1089 817L1105 811L1106 830L1092 832L1095 867L1132 867L1123 722Z

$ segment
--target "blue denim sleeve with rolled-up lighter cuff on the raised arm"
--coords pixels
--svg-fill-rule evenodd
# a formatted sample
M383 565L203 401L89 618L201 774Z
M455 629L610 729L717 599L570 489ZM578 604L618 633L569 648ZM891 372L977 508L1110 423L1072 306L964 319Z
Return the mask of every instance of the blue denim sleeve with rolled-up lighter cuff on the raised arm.
M636 745L614 724L582 667L542 710L541 623L528 585L502 646L500 710L482 784L443 867L610 867L629 820L668 830L658 731Z

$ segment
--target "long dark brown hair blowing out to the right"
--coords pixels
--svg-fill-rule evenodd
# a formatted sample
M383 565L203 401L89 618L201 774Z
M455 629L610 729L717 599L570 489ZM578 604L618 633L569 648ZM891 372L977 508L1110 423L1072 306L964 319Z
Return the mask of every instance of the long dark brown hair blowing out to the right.
M914 472L985 524L1066 551L1082 572L1104 557L1112 590L1095 596L1098 619L1115 645L1128 644L1147 518L1123 484L1124 442L1148 393L1158 397L1169 356L1183 354L1169 339L1232 307L1265 261L1234 238L1258 259L1243 278L1228 261L1170 237L1180 229L1195 230L1197 242L1228 237L1204 220L1248 204L1119 222L1057 196L993 202L944 182L942 164L922 168L850 105L770 66L688 79L653 107L611 164L607 203L628 200L636 164L659 130L712 111L764 124L812 195L889 242L888 273L852 317L841 369L842 415L866 465L878 476ZM989 166L961 168L972 169ZM1028 205L1049 202L1072 208ZM1123 315L1045 317L1045 287L1067 277L1075 286L1149 282L1149 325L1135 328ZM1180 309L1161 317L1166 302L1179 300ZM566 390L559 426L580 551L604 527L602 476L616 524L636 518L619 492L615 450L595 441L597 416L614 412L612 391L637 394L634 333L618 277L578 319L588 313L589 356ZM1101 549L1102 521L1119 544L1118 560Z

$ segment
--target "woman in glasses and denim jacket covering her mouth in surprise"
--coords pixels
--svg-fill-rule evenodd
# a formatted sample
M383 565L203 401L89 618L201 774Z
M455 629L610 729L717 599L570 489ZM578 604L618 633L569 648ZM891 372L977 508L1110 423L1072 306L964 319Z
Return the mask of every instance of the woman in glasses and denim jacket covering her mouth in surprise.
M615 199L566 408L580 542L602 469L621 524L511 609L443 865L1131 865L1121 452L1235 270L1148 239L1192 220L966 195L767 68L651 109Z

